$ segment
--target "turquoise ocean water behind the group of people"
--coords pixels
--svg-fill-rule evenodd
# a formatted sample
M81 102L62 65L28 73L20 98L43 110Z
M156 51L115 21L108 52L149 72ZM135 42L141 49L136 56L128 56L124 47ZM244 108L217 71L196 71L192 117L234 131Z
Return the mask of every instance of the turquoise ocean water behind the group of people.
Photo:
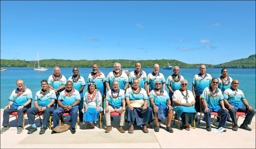
M35 98L36 92L40 89L41 83L40 81L45 79L48 80L48 77L53 74L53 67L49 69L51 71L34 71L33 67L4 67L7 71L1 71L0 77L0 105L1 108L4 108L8 105L12 91L17 88L16 80L22 79L24 80L25 86L27 86L32 91L33 100ZM79 74L84 77L85 82L87 82L88 75L92 72L92 68L78 68ZM131 68L135 70L135 68ZM63 67L60 68L61 74L63 74L66 79L73 75L73 68ZM105 75L108 75L111 72L112 68L99 68ZM142 68L147 74L153 72L153 68ZM172 75L172 70L164 70L160 68L160 73L164 74L165 80L167 80L168 76ZM221 68L208 68L206 69L207 74L211 74L212 78L220 77ZM195 74L199 73L198 68L180 68L180 75L182 75L188 81L188 90L192 90L192 81ZM236 69L236 68L228 68L228 76L230 76L233 80L239 81L238 89L244 92L245 98L247 99L250 106L255 109L255 69ZM86 92L87 85L84 89L84 94ZM165 90L168 91L167 87ZM32 101L32 103L34 103ZM34 104L32 104L34 106Z

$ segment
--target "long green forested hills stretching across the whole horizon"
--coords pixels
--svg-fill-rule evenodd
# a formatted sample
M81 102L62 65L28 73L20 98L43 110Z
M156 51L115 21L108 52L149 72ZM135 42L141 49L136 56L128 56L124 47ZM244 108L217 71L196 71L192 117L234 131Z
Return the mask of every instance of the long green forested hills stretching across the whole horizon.
M26 60L8 60L1 59L0 67L34 67L36 61ZM123 68L133 68L136 62L141 63L143 68L152 68L154 64L159 64L163 68L169 62L172 66L180 68L198 68L202 64L187 64L174 59L156 59L156 60L128 60L128 59L111 59L111 60L65 60L65 59L43 59L40 60L40 67L92 67L96 63L99 67L113 67L115 62L119 62ZM204 64L207 68L255 68L255 54L245 59L233 60L219 65ZM37 62L36 62L37 66Z

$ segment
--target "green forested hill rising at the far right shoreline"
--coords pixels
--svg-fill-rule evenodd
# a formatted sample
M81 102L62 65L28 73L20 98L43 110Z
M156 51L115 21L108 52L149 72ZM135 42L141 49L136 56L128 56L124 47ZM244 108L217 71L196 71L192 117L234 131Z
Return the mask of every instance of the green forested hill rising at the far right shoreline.
M214 68L255 68L255 54L245 59L232 60L230 62L215 65Z

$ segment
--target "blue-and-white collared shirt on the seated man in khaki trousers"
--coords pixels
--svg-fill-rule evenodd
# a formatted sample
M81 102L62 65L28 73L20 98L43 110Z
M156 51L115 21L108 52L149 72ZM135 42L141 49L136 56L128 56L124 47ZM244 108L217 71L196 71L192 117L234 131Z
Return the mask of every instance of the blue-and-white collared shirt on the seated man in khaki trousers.
M119 95L117 98L113 98L111 93L114 97L116 97L118 93ZM120 108L122 106L122 100L124 100L124 90L118 89L116 92L113 89L108 90L105 99L108 101L109 106L112 106L113 108Z

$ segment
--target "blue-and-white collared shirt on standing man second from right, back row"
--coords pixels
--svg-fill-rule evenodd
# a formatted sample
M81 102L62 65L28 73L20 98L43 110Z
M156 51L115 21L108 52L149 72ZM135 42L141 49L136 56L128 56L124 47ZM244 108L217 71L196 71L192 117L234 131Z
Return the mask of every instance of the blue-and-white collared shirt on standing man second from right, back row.
M203 93L204 89L208 87L211 82L212 82L212 76L210 74L205 73L204 78L200 73L196 74L194 76L193 83L192 83L195 85L196 96L200 96Z

